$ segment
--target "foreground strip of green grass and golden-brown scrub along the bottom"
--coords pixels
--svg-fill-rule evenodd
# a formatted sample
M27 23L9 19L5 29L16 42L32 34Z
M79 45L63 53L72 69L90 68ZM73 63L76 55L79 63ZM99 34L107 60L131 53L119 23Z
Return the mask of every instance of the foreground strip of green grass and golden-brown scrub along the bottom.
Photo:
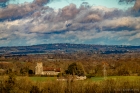
M92 77L57 81L56 77L1 76L0 93L139 93L139 76Z

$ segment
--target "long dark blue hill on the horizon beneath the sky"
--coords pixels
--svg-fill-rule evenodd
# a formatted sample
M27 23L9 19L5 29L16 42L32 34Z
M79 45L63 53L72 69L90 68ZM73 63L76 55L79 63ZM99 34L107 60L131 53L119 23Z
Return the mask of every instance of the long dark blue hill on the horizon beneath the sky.
M28 55L76 52L90 52L95 54L133 53L140 52L140 46L56 43L32 46L0 47L0 55Z

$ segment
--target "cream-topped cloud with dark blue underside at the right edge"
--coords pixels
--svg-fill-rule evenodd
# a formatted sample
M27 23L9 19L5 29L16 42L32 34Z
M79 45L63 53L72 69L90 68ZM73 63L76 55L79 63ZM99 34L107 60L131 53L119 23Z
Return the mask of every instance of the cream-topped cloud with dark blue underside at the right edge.
M139 30L140 29L140 18L139 17L121 17L121 18L114 18L112 20L104 20L101 23L98 23L102 30L108 29L118 29L121 30ZM124 28L124 29L123 29ZM118 29L120 31L120 29Z

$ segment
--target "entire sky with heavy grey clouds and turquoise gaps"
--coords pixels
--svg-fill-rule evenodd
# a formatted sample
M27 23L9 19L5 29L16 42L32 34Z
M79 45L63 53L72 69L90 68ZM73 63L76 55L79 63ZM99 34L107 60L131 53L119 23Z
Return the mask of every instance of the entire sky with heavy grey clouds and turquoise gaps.
M140 0L0 0L0 46L140 45Z

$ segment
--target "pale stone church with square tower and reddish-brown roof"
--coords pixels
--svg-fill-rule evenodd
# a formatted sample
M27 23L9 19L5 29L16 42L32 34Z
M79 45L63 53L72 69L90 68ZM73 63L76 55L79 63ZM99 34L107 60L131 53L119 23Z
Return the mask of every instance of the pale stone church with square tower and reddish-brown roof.
M60 70L60 68L44 67L42 62L38 62L35 67L35 75L58 75Z

